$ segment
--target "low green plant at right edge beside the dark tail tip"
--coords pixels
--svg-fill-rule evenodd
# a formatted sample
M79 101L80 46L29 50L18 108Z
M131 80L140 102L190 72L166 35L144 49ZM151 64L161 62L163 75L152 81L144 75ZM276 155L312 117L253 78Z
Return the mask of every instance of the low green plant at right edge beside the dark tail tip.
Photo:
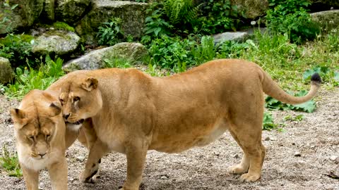
M314 68L306 70L302 77L304 78L304 80L310 81L311 76L315 72L319 73L319 75L321 76L321 80L323 80L323 82L331 82L334 86L339 85L339 72L336 72L326 66L316 66Z

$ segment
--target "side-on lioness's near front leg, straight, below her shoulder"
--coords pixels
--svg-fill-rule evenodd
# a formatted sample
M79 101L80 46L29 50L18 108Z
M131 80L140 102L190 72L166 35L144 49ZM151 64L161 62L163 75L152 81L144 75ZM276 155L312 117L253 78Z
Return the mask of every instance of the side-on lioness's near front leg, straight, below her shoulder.
M133 140L133 142L126 144L127 179L122 190L139 189L147 150L147 143L143 140Z

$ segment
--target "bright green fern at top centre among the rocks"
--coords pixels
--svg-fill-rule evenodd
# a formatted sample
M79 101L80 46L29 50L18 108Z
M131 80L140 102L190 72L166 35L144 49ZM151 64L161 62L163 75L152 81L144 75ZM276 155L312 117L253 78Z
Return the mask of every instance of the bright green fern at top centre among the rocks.
M198 11L201 4L194 6L192 0L167 0L164 9L173 25L178 23L191 23L198 17Z

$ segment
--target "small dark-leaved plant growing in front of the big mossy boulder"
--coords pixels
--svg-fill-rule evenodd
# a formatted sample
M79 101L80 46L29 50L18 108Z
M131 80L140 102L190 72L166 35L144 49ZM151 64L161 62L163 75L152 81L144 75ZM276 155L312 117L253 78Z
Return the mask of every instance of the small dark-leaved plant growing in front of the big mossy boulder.
M98 30L99 45L113 46L124 39L124 32L121 30L121 18L109 19L109 22L102 23Z

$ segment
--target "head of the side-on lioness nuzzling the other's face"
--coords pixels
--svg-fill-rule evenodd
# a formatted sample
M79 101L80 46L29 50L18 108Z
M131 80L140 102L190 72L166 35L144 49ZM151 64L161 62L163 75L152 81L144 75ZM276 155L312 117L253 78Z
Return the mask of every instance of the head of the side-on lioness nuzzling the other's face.
M97 115L102 108L97 79L78 75L76 80L62 87L59 101L66 123L81 125L85 119Z

